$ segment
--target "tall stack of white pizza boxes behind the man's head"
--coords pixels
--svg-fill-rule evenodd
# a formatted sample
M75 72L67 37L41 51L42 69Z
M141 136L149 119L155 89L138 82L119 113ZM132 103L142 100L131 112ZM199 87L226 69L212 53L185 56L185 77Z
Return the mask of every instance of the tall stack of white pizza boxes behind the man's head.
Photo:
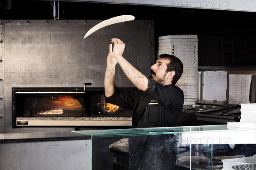
M176 83L185 97L184 105L194 105L197 100L198 37L197 35L167 35L158 37L157 57L171 54L183 63L183 74Z

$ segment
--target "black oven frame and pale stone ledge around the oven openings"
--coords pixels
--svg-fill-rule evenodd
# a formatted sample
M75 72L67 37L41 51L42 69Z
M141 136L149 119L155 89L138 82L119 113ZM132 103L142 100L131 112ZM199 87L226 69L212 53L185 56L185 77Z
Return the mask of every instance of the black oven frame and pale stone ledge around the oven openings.
M61 89L61 91L60 91ZM77 126L131 126L132 125L132 111L128 111L129 114L131 113L131 116L119 116L119 117L99 117L99 116L87 116L87 97L86 95L88 94L89 96L91 93L94 92L101 92L104 93L104 88L97 88L97 87L90 87L86 88L84 91L83 88L12 88L12 127L13 128L18 128L18 127L67 127L67 126L72 126L72 127L77 127ZM120 89L127 89L127 90L134 90L136 88L120 88ZM85 108L85 113L86 116L82 117L81 120L79 119L67 119L67 117L55 117L54 120L46 119L46 120L33 120L31 117L28 117L28 119L20 119L17 120L17 113L15 110L15 106L17 105L16 101L16 92L22 93L22 92L30 92L30 93L47 93L47 92L55 92L55 93L63 93L63 94L74 94L74 92L78 92L81 94L84 94L84 108ZM99 100L97 100L99 102ZM90 108L90 106L89 106ZM80 118L80 117L79 117ZM103 119L102 119L103 118ZM19 121L20 125L17 125Z

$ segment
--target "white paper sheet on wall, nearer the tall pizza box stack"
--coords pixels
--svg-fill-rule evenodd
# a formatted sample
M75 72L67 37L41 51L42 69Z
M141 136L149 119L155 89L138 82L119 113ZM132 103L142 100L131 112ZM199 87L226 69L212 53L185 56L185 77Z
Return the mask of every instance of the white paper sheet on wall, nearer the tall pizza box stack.
M204 72L203 99L226 101L227 72L205 71Z

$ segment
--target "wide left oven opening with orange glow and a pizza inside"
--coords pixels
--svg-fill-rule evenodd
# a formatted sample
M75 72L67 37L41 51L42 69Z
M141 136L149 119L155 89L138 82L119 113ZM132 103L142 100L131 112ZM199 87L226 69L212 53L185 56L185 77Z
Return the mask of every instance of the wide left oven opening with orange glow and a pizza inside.
M13 109L15 117L84 117L84 92L18 89L13 91Z

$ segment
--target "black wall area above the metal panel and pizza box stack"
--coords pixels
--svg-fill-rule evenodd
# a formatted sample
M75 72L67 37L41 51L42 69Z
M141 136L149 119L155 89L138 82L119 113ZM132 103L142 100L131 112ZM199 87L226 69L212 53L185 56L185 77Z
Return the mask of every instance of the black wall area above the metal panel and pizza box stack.
M256 65L255 12L68 1L60 1L59 9L61 20L105 20L130 14L135 20L154 20L155 37L197 34L198 66ZM3 0L0 19L53 19L53 1Z

